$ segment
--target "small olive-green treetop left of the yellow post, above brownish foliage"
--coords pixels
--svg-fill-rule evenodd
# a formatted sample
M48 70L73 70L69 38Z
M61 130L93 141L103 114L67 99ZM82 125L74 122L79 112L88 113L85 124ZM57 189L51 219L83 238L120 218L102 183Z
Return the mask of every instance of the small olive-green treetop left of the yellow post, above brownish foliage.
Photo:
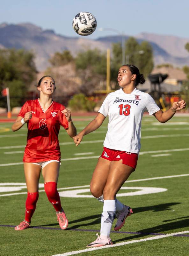
M68 64L73 61L74 58L70 51L64 50L63 52L55 52L54 56L49 59L49 62L53 67L59 67Z

